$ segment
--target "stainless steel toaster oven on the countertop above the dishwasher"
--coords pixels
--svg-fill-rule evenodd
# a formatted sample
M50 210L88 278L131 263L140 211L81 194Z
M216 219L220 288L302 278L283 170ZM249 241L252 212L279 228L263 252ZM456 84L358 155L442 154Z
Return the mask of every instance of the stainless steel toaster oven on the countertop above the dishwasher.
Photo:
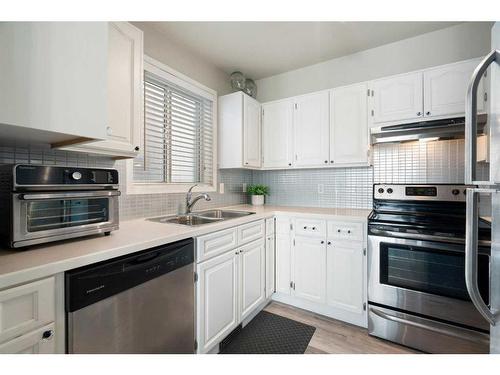
M0 231L12 248L118 229L114 169L3 165L0 191Z

